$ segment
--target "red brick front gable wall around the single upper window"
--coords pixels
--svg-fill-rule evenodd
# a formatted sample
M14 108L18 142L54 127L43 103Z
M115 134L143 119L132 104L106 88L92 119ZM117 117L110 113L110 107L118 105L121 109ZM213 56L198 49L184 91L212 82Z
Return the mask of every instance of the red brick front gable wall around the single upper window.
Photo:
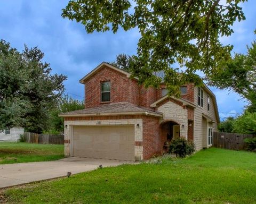
M101 104L101 82L110 81L110 103L129 102L138 105L138 84L107 66L85 82L85 108Z

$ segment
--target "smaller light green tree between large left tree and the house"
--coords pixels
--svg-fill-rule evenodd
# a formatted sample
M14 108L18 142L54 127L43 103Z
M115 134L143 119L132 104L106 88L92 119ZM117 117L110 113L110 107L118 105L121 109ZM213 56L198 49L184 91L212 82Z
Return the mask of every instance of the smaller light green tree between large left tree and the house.
M52 109L50 116L51 127L47 132L64 132L64 119L59 117L60 113L66 113L70 111L76 111L84 109L84 101L73 99L67 95L64 95L58 101L57 107Z

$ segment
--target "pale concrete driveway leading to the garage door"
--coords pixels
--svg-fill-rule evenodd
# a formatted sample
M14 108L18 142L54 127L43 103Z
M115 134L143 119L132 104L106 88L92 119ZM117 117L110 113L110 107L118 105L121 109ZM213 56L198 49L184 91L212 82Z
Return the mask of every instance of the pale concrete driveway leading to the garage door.
M66 176L67 172L72 174L87 172L98 168L99 165L107 167L128 163L132 162L69 157L51 162L2 164L0 165L0 188Z

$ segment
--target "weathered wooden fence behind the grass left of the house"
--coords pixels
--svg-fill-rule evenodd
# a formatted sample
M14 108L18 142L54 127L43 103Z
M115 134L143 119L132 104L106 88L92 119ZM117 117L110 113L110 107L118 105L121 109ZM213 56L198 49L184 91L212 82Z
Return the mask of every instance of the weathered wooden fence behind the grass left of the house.
M26 142L29 143L38 143L43 145L63 145L64 144L64 135L62 134L37 134L32 132L24 133Z

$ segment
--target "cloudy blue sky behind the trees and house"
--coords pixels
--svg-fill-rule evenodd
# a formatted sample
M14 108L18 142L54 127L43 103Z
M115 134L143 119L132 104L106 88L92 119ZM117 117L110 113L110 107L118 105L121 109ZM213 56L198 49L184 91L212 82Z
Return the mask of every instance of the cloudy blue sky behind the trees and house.
M68 76L66 93L83 99L83 85L78 80L102 61L111 62L116 55L136 54L140 34L137 30L87 34L83 25L61 18L67 0L0 0L0 39L22 51L23 45L38 46L54 73ZM234 34L223 37L223 44L234 45L234 52L246 53L256 36L256 1L241 4L246 16L233 26ZM242 113L246 101L228 90L211 88L217 97L220 117ZM228 114L230 113L230 114Z

